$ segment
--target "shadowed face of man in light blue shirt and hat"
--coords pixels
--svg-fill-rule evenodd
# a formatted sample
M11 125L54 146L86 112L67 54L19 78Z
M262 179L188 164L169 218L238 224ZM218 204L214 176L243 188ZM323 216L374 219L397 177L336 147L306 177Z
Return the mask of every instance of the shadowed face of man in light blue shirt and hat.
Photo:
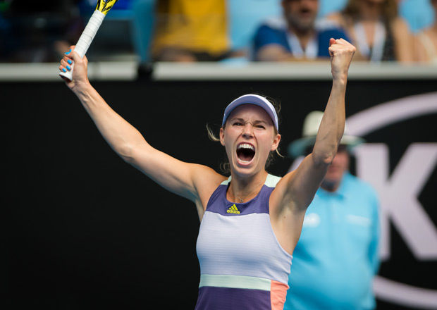
M321 186L326 190L336 190L343 174L349 169L349 162L350 157L345 145L340 145Z

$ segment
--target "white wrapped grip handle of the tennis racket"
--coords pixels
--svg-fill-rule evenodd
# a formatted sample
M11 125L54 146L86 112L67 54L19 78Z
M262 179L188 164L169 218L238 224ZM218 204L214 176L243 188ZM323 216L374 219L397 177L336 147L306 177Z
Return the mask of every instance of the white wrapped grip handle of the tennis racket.
M90 44L92 40L94 39L97 30L99 30L99 27L101 25L101 22L103 22L105 18L105 14L101 13L101 11L94 11L92 13L92 16L90 20L87 23L87 27L85 27L85 30L83 30L82 35L80 35L79 41L76 44L75 52L79 54L80 58L83 58L85 54L87 53L88 48L90 47ZM60 72L59 75L68 78L68 80L73 80L73 68L74 63L70 65L71 70L67 72Z

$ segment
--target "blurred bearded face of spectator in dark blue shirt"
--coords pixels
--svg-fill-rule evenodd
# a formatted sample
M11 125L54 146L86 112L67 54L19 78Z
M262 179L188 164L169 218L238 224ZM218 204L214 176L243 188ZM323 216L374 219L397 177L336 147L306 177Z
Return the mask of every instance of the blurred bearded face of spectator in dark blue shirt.
M295 30L312 30L319 11L319 0L283 0L282 6L288 24Z

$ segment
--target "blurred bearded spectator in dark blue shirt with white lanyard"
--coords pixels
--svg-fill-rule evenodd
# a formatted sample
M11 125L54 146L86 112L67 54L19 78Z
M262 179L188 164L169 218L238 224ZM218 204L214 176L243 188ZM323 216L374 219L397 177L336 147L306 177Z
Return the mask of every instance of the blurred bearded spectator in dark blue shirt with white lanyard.
M318 0L283 0L283 17L271 18L254 37L257 61L293 61L329 58L329 39L346 39L345 32L319 21Z

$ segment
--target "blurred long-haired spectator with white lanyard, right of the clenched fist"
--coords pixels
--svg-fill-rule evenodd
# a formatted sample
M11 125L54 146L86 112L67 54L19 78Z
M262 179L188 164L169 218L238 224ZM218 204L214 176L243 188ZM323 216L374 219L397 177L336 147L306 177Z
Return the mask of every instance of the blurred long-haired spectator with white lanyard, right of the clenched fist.
M357 47L355 60L413 60L412 33L398 16L397 0L349 0L343 11L327 18L347 30Z

